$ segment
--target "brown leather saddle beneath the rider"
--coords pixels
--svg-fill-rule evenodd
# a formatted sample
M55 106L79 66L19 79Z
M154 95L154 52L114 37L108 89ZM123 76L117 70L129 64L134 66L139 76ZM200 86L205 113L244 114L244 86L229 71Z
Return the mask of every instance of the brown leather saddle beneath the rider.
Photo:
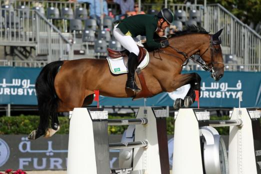
M139 64L144 59L144 57L146 55L146 50L142 46L139 46L139 45L137 45L137 46L138 46L138 49L139 49L139 53L138 53L138 56L137 56L138 64ZM117 50L114 50L114 49L107 48L107 50L108 50L108 56L110 58L124 57L124 56L128 56L128 54L129 54L129 51L127 49L117 51Z

